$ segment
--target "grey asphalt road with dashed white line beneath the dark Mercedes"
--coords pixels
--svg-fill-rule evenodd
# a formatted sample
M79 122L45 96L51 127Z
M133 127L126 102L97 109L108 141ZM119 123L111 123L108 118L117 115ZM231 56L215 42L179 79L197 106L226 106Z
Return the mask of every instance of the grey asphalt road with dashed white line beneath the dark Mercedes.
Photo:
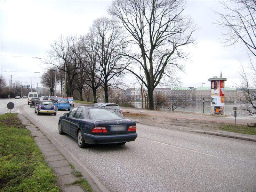
M25 101L15 111L51 135L110 191L256 191L252 141L137 124L133 142L81 149L58 133L58 118L68 111L37 116Z

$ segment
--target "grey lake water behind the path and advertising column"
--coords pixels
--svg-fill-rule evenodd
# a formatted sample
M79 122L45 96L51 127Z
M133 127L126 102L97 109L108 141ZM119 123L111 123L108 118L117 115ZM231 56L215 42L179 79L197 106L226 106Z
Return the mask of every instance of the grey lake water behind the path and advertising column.
M136 108L141 108L140 102L132 102ZM245 115L244 111L241 110L241 107L244 106L242 103L225 103L225 115L231 115L234 113L233 107L237 107L237 114L238 115ZM161 109L164 110L164 109ZM176 108L174 111L186 111L186 112L193 112L193 113L203 113L203 103L188 103L186 108ZM211 106L210 102L204 102L204 113L210 114Z

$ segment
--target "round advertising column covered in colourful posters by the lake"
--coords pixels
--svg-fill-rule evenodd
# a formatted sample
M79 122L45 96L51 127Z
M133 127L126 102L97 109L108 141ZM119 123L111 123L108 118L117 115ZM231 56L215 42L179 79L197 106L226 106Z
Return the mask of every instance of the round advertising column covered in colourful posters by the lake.
M221 74L221 73L220 73ZM211 111L214 111L215 115L224 115L225 108L225 81L226 78L213 77L208 79L211 82Z

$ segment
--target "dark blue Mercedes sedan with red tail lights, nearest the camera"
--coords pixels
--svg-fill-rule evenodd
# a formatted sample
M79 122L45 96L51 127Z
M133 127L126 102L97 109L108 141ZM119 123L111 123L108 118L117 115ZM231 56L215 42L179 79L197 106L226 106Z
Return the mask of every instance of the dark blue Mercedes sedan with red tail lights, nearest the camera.
M59 118L59 133L77 140L80 148L89 144L134 141L137 138L135 121L125 119L113 108L76 106Z

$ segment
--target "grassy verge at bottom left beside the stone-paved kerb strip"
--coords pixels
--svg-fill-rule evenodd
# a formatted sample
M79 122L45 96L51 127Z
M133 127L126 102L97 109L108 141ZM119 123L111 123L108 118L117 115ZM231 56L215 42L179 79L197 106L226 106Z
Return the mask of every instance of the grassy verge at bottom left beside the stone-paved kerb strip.
M0 116L0 191L60 191L30 131L17 114Z

